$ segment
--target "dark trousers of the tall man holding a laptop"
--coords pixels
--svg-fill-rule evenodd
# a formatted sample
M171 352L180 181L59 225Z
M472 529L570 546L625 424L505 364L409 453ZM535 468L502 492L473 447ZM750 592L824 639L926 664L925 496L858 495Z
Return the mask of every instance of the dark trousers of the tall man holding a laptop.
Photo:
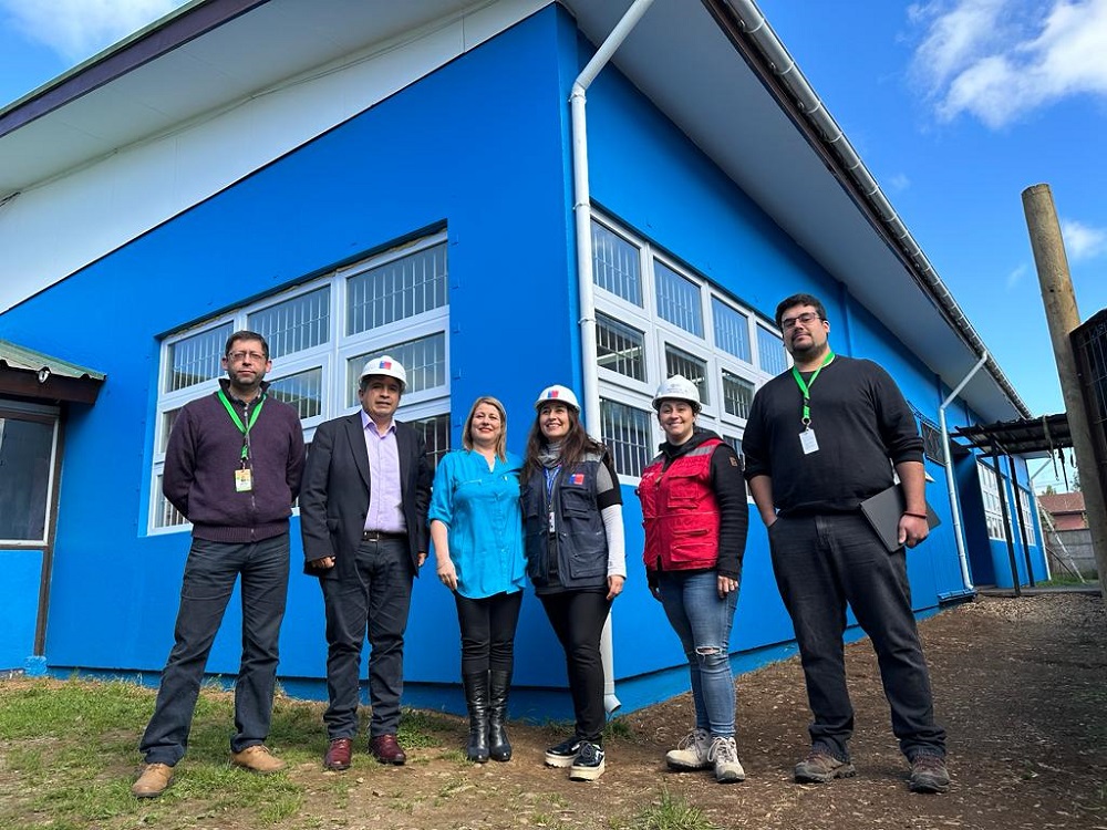
M842 646L848 602L877 652L900 750L909 760L944 756L945 732L934 723L903 548L889 553L860 512L778 518L768 538L815 716L811 747L849 759L853 707Z

